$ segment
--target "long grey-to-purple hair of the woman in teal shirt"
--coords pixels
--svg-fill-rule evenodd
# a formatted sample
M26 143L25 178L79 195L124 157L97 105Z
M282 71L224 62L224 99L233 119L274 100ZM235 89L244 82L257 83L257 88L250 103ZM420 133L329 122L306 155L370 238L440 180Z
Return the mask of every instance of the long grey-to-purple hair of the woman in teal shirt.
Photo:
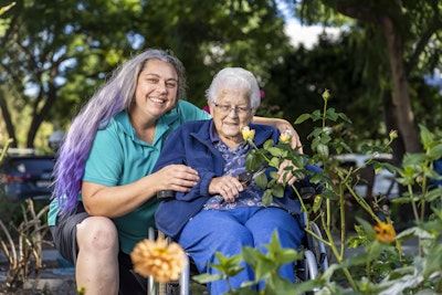
M74 118L59 150L53 198L57 199L61 213L70 213L76 208L84 167L95 134L106 128L116 114L129 108L135 99L138 75L149 60L173 65L178 75L177 98L186 97L185 67L169 51L148 49L118 66Z

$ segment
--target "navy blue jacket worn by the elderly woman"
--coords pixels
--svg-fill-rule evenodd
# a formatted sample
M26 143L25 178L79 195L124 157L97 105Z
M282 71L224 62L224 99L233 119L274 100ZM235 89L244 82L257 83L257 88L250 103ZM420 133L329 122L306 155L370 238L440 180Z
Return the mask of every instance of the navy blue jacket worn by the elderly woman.
M223 175L224 160L210 139L211 122L212 119L182 124L167 138L154 168L155 172L168 165L183 164L197 170L200 178L189 192L177 192L175 199L159 203L155 214L157 228L171 238L176 238L212 197L209 194L209 183L212 178ZM262 147L267 139L278 141L280 133L274 127L252 124L250 128L255 130L253 141L257 147ZM297 182L298 185L302 186ZM288 212L299 214L299 201L291 196L293 190L286 189L283 198L273 198L273 201Z

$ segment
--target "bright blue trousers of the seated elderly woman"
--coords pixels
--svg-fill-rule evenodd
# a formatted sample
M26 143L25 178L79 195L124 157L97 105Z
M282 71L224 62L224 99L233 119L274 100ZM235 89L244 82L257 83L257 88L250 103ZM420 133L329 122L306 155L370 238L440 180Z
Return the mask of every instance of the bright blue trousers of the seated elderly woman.
M183 228L177 242L192 256L200 273L217 274L209 263L218 263L214 253L224 256L241 253L243 246L252 246L266 253L274 230L282 247L298 250L304 235L299 221L280 208L248 207L233 210L202 210ZM233 288L253 281L253 271L245 264L240 274L230 278ZM281 267L280 275L295 282L294 263ZM208 284L211 295L229 291L225 280ZM260 288L263 287L262 285Z

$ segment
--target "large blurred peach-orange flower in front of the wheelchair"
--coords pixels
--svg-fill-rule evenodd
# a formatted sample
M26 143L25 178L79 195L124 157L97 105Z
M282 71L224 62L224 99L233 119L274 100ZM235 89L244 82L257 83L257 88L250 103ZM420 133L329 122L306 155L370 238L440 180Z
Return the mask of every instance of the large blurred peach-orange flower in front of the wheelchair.
M177 243L168 244L162 238L157 241L143 240L130 253L134 271L156 282L167 283L177 281L186 266L185 251Z

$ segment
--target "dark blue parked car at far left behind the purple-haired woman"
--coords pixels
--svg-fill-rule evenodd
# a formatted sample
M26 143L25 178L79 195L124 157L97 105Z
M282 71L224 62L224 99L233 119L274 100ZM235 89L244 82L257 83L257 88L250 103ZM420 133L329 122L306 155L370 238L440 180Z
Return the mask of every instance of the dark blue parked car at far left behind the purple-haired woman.
M0 164L0 188L11 201L31 198L49 203L54 157L8 152Z

